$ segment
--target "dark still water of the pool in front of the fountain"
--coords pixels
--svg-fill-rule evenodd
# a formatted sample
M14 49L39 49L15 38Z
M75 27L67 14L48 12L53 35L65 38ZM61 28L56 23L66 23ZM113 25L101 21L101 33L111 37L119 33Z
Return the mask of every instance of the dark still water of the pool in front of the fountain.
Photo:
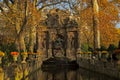
M117 80L103 74L91 72L85 69L77 70L38 70L28 80Z

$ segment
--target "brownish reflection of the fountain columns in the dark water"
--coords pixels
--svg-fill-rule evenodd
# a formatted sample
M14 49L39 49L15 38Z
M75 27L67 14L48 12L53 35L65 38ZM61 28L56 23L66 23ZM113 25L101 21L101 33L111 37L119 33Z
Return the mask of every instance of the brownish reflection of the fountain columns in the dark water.
M69 71L69 70L62 70L62 71L52 71L52 72L45 72L44 80L79 80L77 71Z

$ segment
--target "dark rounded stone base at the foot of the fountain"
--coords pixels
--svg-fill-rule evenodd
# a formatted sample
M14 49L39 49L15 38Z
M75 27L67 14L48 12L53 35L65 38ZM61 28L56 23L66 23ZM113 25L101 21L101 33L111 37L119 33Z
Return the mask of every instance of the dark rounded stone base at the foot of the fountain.
M43 71L46 70L56 70L56 69L78 69L79 65L76 61L70 60L66 57L55 57L55 58L49 58L45 61L43 61L41 65L41 69Z

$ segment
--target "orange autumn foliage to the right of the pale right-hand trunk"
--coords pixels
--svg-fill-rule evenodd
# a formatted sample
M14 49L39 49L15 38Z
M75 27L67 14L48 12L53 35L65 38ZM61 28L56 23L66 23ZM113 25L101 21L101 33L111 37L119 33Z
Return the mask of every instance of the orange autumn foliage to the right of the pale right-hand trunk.
M116 44L119 40L117 29L115 28L119 21L119 10L116 8L116 4L107 0L100 2L100 30L101 40L104 45Z

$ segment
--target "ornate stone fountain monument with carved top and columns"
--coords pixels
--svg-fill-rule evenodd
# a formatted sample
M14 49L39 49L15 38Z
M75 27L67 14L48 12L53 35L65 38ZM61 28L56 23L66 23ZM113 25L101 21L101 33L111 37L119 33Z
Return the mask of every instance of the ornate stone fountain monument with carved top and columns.
M52 9L46 16L47 18L41 23L46 26L46 29L41 27L41 31L39 31L44 34L45 38L41 35L38 51L47 57L75 56L79 45L76 20L71 18L69 12L60 9ZM41 45L43 42L46 47Z

